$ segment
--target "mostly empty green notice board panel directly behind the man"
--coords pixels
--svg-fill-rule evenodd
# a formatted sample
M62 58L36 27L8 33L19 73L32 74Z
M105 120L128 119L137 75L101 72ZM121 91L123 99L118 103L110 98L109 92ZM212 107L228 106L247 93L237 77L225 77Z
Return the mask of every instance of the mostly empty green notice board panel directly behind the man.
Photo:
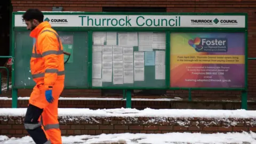
M15 31L14 87L33 87L30 58L35 39L30 31ZM71 53L65 65L65 87L88 87L88 34L86 31L57 31L63 50ZM67 60L65 55L65 61Z

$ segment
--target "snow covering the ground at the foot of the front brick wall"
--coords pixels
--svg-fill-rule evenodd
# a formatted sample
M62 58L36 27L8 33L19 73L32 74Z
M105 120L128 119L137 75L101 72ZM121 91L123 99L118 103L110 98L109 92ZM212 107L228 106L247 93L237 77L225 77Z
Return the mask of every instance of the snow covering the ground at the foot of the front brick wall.
M256 133L216 133L216 134L202 134L202 133L165 133L165 134L101 134L101 135L76 135L69 137L62 137L63 144L80 143L126 143L126 144L177 144L177 143L256 143ZM32 144L34 143L30 137L23 138L7 138L0 135L1 144Z

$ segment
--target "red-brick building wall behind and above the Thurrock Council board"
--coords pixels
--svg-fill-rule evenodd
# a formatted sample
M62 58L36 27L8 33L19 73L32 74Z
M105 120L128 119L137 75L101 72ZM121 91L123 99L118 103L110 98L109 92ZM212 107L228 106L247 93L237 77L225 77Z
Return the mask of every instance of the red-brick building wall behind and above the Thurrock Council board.
M35 8L42 11L51 11L52 6L62 6L64 11L83 11L83 12L102 12L102 7L114 6L139 6L139 7L167 7L167 12L218 12L218 13L248 13L248 51L249 58L256 57L256 0L97 0L97 1L81 1L81 0L36 0L36 1L18 1L11 0L13 11L26 11L28 8ZM248 80L249 80L249 99L256 98L256 60L248 62ZM234 71L235 73L235 71ZM67 95L77 93L77 95L87 95L85 91L73 90L65 91ZM91 93L92 91L89 91ZM101 91L95 95L101 95ZM63 93L65 95L66 93ZM68 94L69 93L69 94ZM74 93L73 93L74 94ZM187 98L187 91L168 91L166 93L170 97ZM211 92L211 91L193 91L192 97L195 99L239 99L240 92Z

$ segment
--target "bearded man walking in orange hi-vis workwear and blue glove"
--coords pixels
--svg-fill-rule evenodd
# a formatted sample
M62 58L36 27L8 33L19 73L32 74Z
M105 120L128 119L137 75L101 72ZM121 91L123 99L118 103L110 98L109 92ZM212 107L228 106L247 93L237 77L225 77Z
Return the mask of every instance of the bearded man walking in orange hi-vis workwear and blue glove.
M36 85L30 95L25 129L36 144L59 144L58 99L64 87L64 55L60 38L38 9L23 16L30 37L36 39L30 70Z

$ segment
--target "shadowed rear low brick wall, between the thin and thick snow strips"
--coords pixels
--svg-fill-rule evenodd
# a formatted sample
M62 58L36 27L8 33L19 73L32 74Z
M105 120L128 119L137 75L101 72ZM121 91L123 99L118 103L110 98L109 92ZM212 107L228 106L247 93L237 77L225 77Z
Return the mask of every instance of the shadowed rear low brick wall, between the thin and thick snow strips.
M27 108L28 100L18 100L18 108ZM0 100L0 108L11 108L11 100ZM59 108L125 108L125 100L59 100ZM239 101L132 101L135 109L241 109ZM248 110L256 110L256 102L248 102Z

